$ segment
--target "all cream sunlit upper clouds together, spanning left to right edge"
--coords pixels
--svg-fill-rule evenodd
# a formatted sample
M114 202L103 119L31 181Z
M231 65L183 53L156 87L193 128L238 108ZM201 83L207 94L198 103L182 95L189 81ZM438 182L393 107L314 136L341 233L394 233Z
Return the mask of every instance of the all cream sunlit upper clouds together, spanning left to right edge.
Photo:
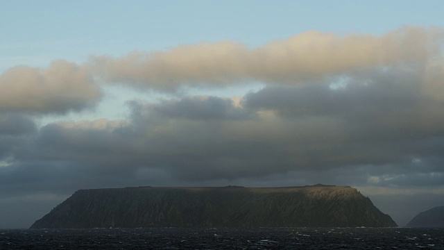
M385 35L309 31L262 47L235 42L135 51L120 58L92 56L82 65L56 60L46 68L17 66L0 74L0 110L65 114L92 108L110 84L177 92L259 81L298 86L393 67L422 67L423 92L443 97L441 28L404 27Z

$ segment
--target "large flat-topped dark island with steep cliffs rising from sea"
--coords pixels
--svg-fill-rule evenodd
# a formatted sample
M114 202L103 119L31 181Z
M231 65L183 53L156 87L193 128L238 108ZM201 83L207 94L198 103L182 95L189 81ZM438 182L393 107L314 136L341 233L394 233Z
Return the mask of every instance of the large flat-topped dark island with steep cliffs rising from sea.
M350 187L78 190L31 228L396 226Z

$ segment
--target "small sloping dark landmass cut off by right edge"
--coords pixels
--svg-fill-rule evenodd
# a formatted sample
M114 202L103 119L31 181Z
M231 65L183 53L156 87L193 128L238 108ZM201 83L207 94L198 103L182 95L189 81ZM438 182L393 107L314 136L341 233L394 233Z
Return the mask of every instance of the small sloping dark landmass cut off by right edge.
M444 206L429 209L425 212L416 215L409 224L409 227L430 227L443 228L444 227Z

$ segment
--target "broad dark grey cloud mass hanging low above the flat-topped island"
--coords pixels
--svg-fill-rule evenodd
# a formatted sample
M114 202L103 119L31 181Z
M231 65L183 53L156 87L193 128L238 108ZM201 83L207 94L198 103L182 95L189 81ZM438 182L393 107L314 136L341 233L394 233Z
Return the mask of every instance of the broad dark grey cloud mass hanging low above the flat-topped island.
M444 185L436 167L444 103L423 91L423 73L418 65L362 70L340 88L332 88L337 78L267 87L240 105L219 97L133 102L126 123L44 126L15 158L68 161L116 179L141 169L190 183L334 171L345 176L340 183L426 185L429 176Z

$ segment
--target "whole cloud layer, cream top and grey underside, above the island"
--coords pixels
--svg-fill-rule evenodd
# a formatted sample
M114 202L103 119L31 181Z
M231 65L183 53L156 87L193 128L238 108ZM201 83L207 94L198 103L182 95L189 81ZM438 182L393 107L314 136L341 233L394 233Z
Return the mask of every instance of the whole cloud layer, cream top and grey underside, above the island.
M212 183L443 188L442 47L441 28L312 31L257 48L225 41L12 67L0 75L1 196ZM251 81L265 87L231 98L191 91ZM126 120L37 126L94 108L109 85L167 97L130 101Z

